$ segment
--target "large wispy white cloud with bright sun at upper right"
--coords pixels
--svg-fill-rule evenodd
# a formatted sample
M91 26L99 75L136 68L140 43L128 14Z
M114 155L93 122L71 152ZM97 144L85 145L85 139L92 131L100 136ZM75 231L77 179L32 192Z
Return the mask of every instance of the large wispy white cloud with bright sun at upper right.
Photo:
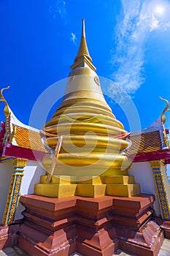
M144 83L146 39L152 31L170 28L170 4L166 0L121 0L121 3L111 78L128 93L134 93Z

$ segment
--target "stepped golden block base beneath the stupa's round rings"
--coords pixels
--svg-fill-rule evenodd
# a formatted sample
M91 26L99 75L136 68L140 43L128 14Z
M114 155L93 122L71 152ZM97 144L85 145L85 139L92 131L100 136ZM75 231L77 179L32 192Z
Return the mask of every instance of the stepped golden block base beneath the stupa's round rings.
M53 176L50 183L47 183L47 176L41 176L34 193L58 198L74 195L131 197L140 193L140 185L134 183L134 176Z

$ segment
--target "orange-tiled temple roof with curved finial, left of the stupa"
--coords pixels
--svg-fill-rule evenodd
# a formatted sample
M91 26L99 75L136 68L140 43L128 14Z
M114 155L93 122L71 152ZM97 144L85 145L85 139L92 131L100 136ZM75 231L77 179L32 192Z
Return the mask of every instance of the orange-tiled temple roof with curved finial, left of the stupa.
M20 157L41 161L47 149L41 141L39 129L23 124L16 118L4 99L3 91L4 89L1 89L0 99L5 103L5 121L1 122L0 157Z

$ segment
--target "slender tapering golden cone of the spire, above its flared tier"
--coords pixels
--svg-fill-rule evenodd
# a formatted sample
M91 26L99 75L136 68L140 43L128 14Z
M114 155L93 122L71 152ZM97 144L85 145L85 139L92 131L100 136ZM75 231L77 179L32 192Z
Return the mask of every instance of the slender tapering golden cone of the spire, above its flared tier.
M86 56L88 60L92 63L92 59L90 58L90 54L88 52L88 46L85 39L85 19L82 19L82 37L80 41L80 47L77 53L77 57L74 59L76 62L78 59L82 58L82 56Z

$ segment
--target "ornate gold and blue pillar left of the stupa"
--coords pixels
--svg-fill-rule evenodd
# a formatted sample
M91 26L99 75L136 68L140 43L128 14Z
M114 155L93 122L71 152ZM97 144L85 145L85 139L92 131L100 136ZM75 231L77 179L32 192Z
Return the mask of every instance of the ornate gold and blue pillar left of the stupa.
M12 179L9 187L7 203L2 219L3 225L12 224L15 220L15 214L18 208L20 198L20 187L23 178L24 167L26 167L27 159L16 158L13 162Z

